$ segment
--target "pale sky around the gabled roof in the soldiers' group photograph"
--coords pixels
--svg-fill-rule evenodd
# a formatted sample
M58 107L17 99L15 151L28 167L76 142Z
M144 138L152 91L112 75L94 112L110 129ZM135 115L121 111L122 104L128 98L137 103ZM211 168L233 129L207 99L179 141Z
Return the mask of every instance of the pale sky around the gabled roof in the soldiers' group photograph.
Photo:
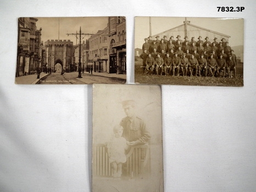
M191 24L231 36L230 46L243 45L243 19L234 18L187 18ZM183 24L185 18L151 17L152 35ZM149 17L135 19L135 48L141 48L144 38L149 36ZM169 38L169 37L168 37ZM152 37L152 39L155 39ZM176 40L176 38L174 37ZM183 39L183 37L181 37ZM197 41L197 37L195 37ZM204 37L203 37L204 39Z

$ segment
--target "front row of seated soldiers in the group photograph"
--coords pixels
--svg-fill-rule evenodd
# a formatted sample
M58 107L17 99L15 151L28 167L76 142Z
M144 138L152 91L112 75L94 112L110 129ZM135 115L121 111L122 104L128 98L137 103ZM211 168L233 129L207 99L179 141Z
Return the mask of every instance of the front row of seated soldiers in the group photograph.
M193 76L194 72L194 76L197 74L201 76L202 74L204 76L224 77L227 72L227 77L231 78L233 72L233 77L236 77L237 59L233 50L228 57L225 53L221 53L218 58L215 53L208 55L205 50L201 55L190 54L188 50L180 55L177 52L174 53L173 49L171 49L171 53L165 53L163 49L162 53L158 53L155 48L152 53L147 52L148 50L144 49L140 55L140 58L143 59L142 67L144 67L146 74L153 74L155 70L155 73L159 75L160 70L160 75L163 75L163 72L165 76L171 75L172 72L172 76L179 76L180 73L187 76L187 71L189 71L190 76Z

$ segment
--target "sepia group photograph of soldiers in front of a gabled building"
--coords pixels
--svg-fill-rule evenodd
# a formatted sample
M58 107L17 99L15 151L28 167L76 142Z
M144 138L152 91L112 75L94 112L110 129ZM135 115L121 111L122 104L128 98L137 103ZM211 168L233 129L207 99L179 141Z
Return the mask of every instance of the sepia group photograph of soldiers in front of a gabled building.
M243 19L135 18L135 83L243 86Z

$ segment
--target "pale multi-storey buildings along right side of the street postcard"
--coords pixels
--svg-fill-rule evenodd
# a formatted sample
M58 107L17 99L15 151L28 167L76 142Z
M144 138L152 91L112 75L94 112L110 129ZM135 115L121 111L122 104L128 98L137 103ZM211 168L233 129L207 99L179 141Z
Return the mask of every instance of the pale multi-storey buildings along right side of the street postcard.
M107 27L89 38L89 65L94 72L126 74L126 20L110 16Z

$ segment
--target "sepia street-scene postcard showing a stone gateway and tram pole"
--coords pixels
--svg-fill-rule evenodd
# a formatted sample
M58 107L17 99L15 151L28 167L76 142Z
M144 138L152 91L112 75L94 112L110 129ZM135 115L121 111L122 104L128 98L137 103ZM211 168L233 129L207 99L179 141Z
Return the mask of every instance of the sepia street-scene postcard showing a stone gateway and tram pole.
M126 83L125 17L19 18L15 83Z

